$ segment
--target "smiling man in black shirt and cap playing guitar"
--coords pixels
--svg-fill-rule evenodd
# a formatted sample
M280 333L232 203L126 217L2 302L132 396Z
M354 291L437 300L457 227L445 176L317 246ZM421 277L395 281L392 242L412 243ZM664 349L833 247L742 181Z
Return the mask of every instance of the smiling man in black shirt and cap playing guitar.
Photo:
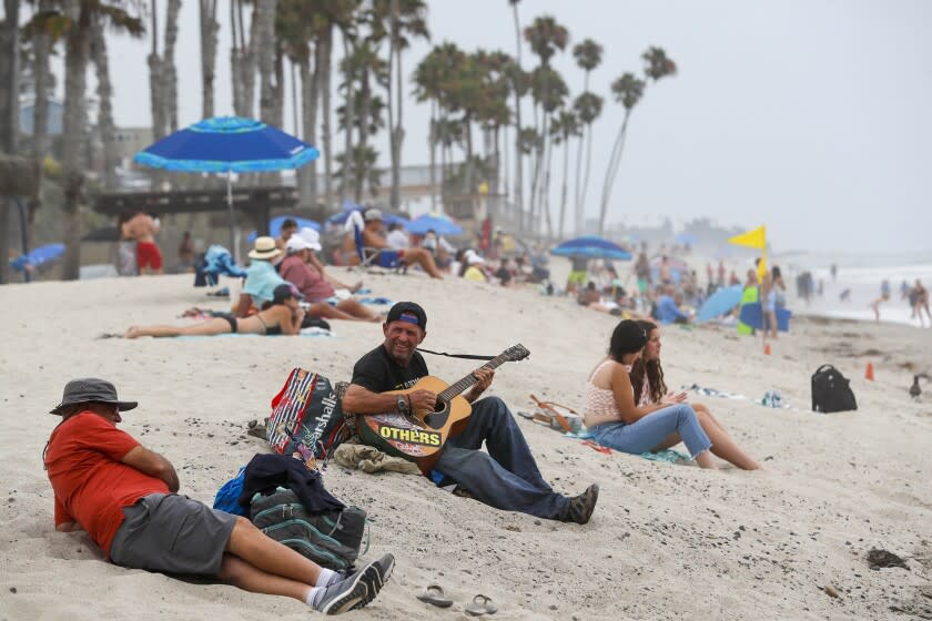
M413 302L399 302L388 310L382 329L384 343L353 367L353 380L343 397L344 411L356 415L434 411L437 395L430 390L383 394L411 388L429 375L424 357L415 350L427 336L424 308ZM479 368L473 375L477 381L464 395L472 404L473 414L463 432L446 442L434 468L480 502L497 509L565 522L588 522L598 500L598 485L573 498L555 492L540 475L508 406L498 397L479 399L492 384L494 371ZM480 450L483 442L488 452Z

